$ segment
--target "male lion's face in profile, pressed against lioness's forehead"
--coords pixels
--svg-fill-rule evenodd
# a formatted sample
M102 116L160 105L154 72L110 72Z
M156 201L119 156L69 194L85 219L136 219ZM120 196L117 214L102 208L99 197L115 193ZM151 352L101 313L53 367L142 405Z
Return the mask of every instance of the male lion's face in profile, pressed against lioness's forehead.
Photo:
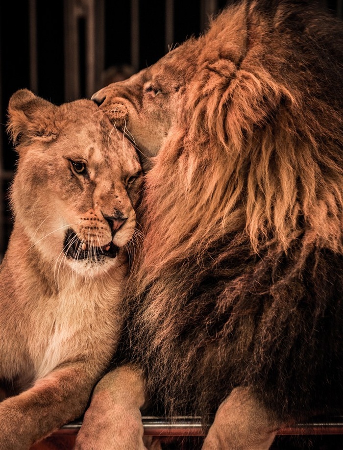
M195 55L194 41L187 41L154 65L92 96L112 123L127 132L143 162L156 156L177 116Z

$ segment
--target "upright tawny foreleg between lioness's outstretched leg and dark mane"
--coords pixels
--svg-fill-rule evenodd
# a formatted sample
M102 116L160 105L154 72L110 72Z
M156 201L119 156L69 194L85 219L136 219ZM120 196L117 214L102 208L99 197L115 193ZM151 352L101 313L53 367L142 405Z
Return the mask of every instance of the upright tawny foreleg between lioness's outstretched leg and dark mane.
M77 450L145 449L140 408L144 405L142 372L119 367L98 382L76 438Z

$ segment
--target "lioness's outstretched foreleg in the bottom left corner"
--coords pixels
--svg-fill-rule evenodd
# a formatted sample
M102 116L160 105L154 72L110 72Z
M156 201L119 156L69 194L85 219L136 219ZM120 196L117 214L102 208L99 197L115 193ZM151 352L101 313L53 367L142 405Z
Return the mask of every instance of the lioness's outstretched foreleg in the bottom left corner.
M87 406L94 379L84 364L59 368L0 403L0 449L27 450Z

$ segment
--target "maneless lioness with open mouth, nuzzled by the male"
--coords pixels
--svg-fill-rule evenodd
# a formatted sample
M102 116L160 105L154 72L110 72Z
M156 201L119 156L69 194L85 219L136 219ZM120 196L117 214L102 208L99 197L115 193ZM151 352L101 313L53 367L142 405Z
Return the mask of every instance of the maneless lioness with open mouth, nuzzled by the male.
M142 170L91 100L8 105L18 166L0 266L0 448L81 416L115 351Z

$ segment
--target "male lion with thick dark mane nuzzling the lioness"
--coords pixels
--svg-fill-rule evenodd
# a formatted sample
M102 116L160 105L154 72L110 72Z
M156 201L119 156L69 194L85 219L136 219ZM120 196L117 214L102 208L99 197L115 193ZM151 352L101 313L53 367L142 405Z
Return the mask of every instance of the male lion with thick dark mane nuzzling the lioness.
M342 28L312 1L241 1L93 96L154 157L128 364L98 383L78 448L142 449L145 400L200 415L217 450L342 408Z

